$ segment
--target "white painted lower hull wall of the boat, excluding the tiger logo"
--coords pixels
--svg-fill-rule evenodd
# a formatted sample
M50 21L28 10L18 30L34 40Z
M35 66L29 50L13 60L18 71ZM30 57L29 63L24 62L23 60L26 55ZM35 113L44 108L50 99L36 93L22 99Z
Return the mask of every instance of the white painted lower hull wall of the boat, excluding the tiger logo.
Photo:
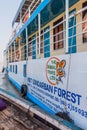
M41 103L45 104L54 113L67 111L75 124L84 130L87 130L87 52L75 53L71 55L59 55L45 59L29 60L27 67L27 77L31 81L27 81L28 91L36 97ZM60 62L66 61L63 68L65 71L64 77L61 77L62 82L58 84L52 80L55 85L52 85L47 79L47 66L51 61ZM23 64L25 61L12 64L18 65L18 74L9 73L9 75L19 84L23 84L26 79L23 77ZM55 66L55 65L54 65ZM56 66L55 66L56 67ZM51 69L52 70L52 69ZM56 76L56 70L55 76ZM34 80L38 84L34 84ZM40 87L40 83L45 86ZM52 86L53 91L49 91L48 86ZM44 89L44 88L47 89ZM51 95L52 97L48 96ZM67 95L67 96L66 96ZM56 98L58 100L56 100Z

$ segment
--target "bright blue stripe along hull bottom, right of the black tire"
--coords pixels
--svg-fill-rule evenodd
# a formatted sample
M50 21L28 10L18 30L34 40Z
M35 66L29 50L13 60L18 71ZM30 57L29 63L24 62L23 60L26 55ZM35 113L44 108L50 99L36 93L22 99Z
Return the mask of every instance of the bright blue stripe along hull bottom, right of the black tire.
M36 103L37 105L39 105L41 108L43 108L47 112L49 112L51 114L55 114L54 111L52 111L50 108L48 108L46 105L44 105L41 101L39 101L37 98L35 98L31 94L27 93L27 98L31 99L34 103Z

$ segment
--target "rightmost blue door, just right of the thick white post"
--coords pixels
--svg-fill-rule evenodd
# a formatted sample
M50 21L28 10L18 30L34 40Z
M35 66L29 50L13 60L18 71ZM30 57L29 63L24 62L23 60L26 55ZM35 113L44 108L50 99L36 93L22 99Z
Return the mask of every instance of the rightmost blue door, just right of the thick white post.
M69 14L75 11L72 10ZM76 17L69 19L69 40L68 40L68 53L76 53Z

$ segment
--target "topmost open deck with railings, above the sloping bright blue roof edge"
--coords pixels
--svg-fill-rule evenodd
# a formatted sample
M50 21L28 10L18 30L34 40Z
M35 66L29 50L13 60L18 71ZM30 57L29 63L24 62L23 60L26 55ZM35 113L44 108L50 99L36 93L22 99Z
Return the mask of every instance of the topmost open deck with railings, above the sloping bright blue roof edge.
M13 32L9 38L8 44L11 42L13 37L19 32L26 21L31 17L36 8L40 5L43 0L22 0L20 6L15 14L12 21Z

